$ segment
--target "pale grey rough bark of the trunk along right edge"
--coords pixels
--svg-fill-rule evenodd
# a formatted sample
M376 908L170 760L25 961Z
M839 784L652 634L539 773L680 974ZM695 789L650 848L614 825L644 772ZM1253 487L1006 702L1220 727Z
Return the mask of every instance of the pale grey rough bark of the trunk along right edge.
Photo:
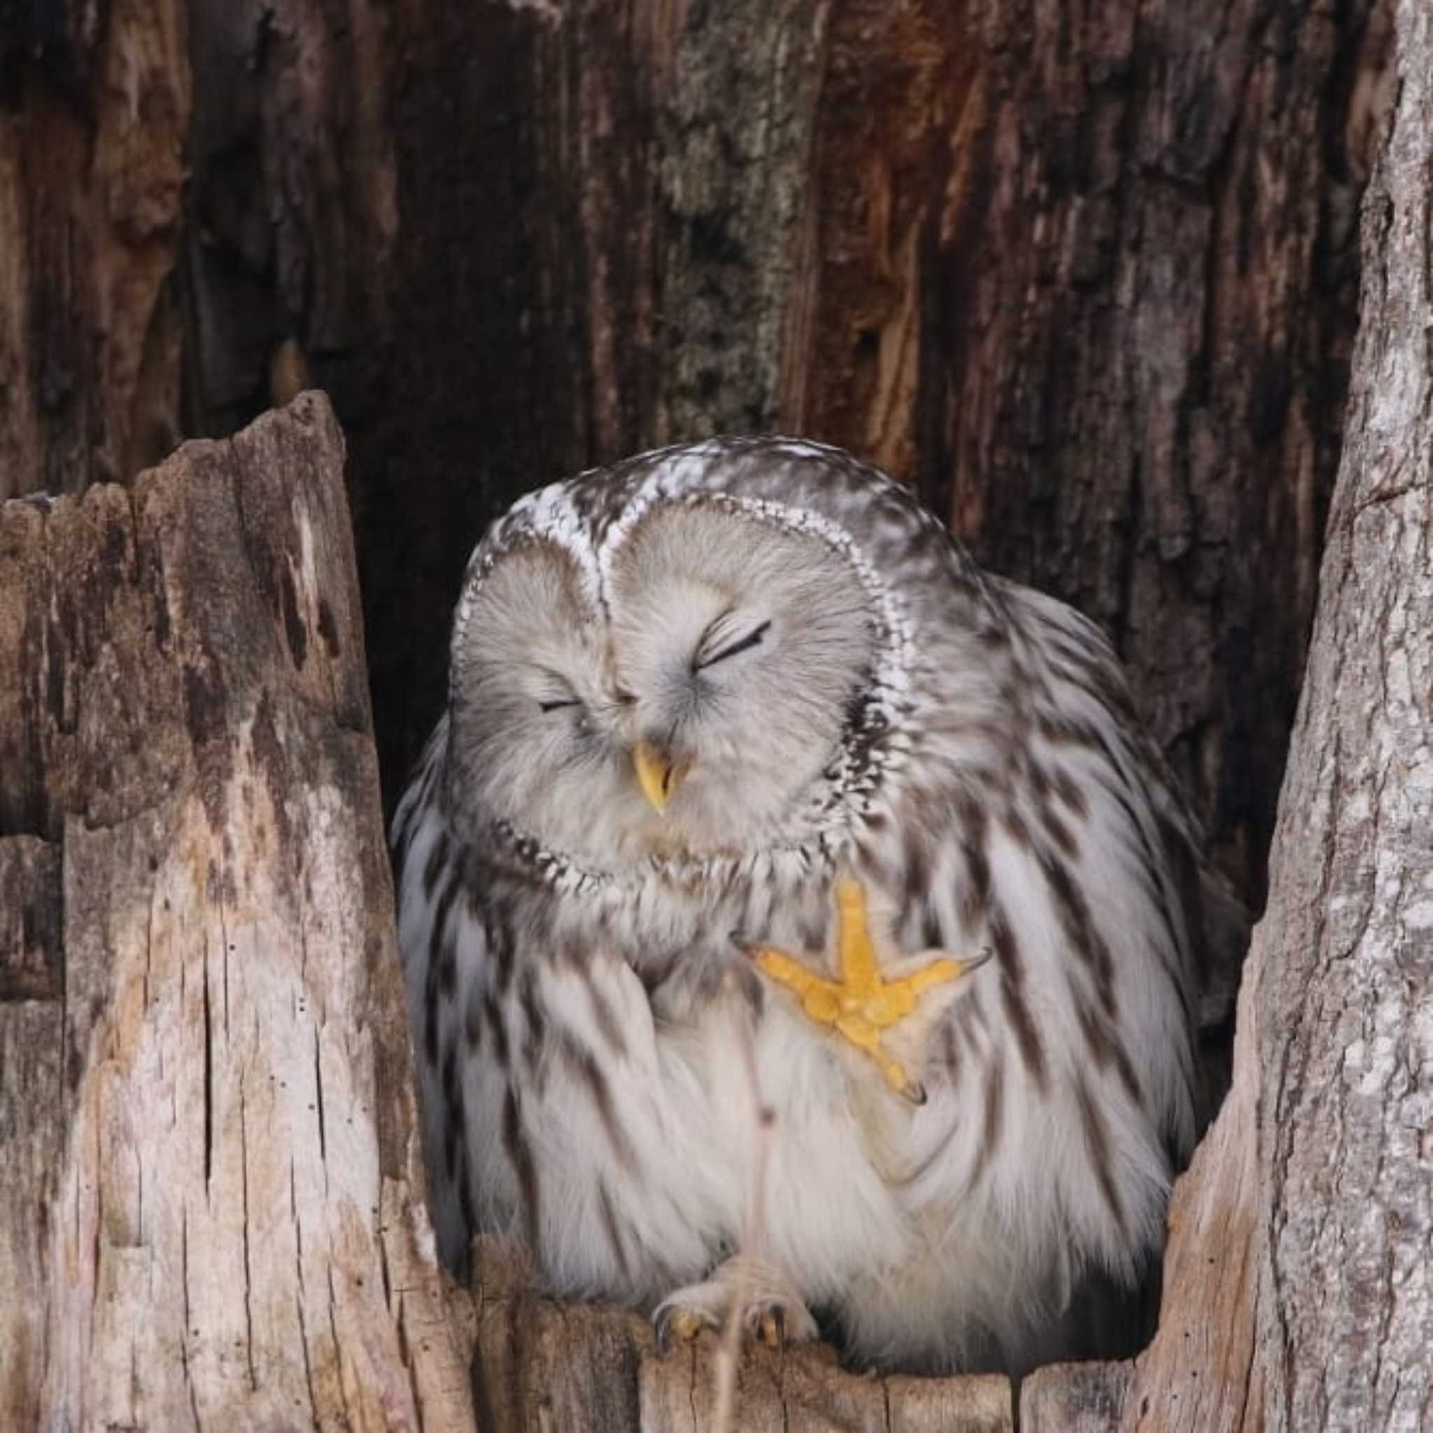
M1363 327L1264 966L1273 1429L1433 1420L1433 10L1364 209ZM1317 1291L1317 1297L1314 1297Z

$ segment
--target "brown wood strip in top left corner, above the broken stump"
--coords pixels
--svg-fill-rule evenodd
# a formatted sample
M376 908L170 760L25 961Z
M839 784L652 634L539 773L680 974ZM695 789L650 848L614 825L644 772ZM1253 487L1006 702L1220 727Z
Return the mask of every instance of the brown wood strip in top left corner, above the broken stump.
M183 0L0 6L0 499L178 441Z

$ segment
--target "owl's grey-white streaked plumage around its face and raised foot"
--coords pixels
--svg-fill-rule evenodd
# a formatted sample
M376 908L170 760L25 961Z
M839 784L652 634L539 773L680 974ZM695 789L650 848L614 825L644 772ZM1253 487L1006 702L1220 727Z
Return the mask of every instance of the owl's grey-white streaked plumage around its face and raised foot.
M696 853L635 850L576 778L583 850L484 808L507 759L467 709L484 585L536 550L606 642L632 535L682 504L790 532L792 563L814 540L860 593L874 655L820 775L759 837ZM563 1295L651 1310L708 1278L748 1212L748 1037L775 1111L764 1257L854 1358L1019 1371L1098 1353L1088 1291L1118 1298L1158 1264L1195 1138L1199 834L1099 631L980 572L854 459L715 440L519 503L470 565L449 712L393 845L454 1267L486 1230ZM921 1105L732 944L825 949L838 873L871 893L893 957L993 952L921 1046Z

